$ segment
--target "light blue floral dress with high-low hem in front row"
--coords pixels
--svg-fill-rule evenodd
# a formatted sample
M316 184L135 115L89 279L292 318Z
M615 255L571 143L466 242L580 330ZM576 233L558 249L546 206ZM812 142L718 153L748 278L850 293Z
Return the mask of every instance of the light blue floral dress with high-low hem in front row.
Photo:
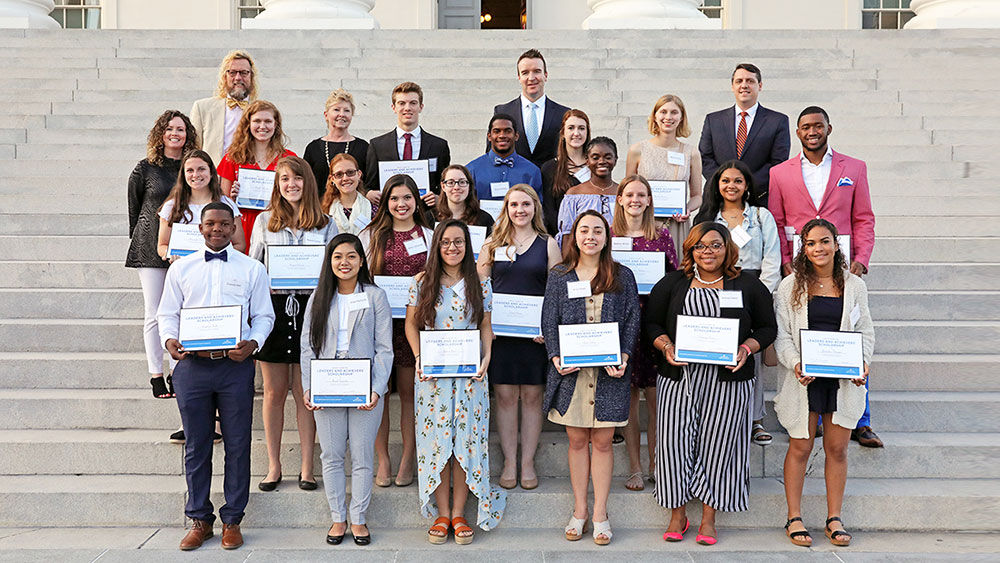
M421 283L410 285L409 305L417 305ZM483 310L492 309L493 285L481 284ZM468 330L476 326L466 316L465 283L441 287L435 304L436 330ZM415 420L417 430L417 482L420 486L420 511L426 518L435 517L438 509L434 490L441 484L441 471L452 456L465 470L465 483L478 499L476 524L491 530L500 523L507 494L490 485L490 396L484 377L439 377L415 383Z

